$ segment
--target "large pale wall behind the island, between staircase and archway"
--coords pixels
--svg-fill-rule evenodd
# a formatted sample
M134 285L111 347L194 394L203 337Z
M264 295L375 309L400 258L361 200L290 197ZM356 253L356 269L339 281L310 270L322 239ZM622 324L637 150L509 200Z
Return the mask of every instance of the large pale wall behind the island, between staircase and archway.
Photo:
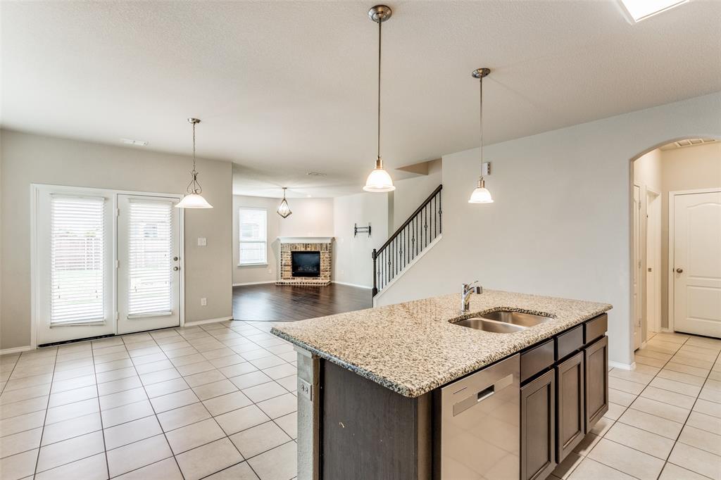
M676 138L721 135L721 93L485 148L495 203L471 205L477 149L443 156L443 240L380 298L487 288L614 305L611 360L632 363L631 159Z

